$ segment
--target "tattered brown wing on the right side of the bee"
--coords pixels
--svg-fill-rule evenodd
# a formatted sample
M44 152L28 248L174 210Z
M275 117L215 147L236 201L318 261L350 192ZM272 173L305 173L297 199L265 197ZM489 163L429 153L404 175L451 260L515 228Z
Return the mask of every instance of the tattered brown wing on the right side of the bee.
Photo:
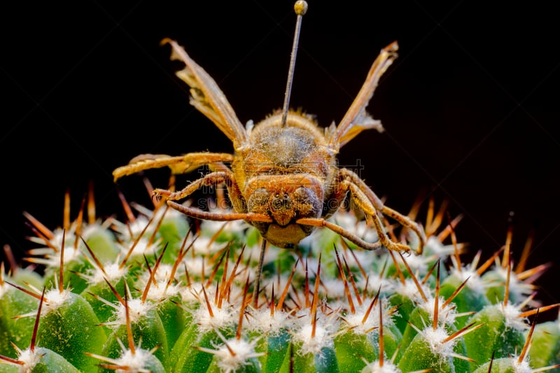
M379 78L391 66L397 57L398 44L396 41L387 45L381 50L379 56L373 62L370 72L363 83L360 92L352 102L350 108L340 121L335 131L331 133L329 144L334 149L339 149L345 143L354 138L364 129L375 128L379 132L383 131L383 126L379 120L374 120L370 114L365 111L367 104L373 96L373 92L379 83Z

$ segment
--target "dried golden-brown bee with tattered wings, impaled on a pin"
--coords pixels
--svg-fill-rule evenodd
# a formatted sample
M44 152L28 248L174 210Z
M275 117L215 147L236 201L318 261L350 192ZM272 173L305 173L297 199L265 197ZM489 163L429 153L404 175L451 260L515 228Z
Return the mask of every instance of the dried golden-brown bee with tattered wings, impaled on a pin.
M256 227L265 241L279 248L293 248L317 227L326 227L365 250L383 246L393 251L412 251L411 246L393 241L385 232L382 216L386 216L416 233L419 239L414 251L421 253L426 240L421 226L385 206L358 174L337 165L337 154L342 146L365 129L382 130L379 120L374 120L365 108L379 78L397 57L398 44L393 42L381 49L367 73L363 87L342 120L338 125L333 123L322 129L311 115L288 110L297 34L301 16L306 9L304 1L297 1L295 10L298 22L284 108L256 125L251 121L246 126L242 125L211 76L176 41L164 39L162 44L171 45L171 59L185 64L184 69L176 72L176 75L190 87L190 104L228 136L235 153L139 155L129 164L113 171L115 181L158 167L169 167L172 173L183 174L207 166L210 172L186 188L178 191L155 189L153 196L165 198L169 206L193 218L245 220ZM228 190L232 205L229 213L205 211L179 203L201 188L218 185L225 185ZM377 241L365 241L328 220L347 195L351 196L355 207L363 212L367 222L377 231Z

